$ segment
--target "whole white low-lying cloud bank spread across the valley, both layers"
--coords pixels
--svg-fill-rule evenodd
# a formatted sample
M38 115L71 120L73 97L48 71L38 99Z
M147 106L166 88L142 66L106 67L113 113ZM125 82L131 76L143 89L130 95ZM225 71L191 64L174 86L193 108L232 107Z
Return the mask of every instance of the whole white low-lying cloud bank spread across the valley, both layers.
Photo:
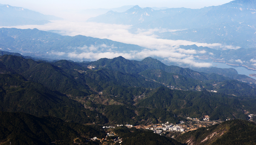
M164 30L164 29L150 29L150 30L138 30L137 33L130 33L129 29L131 25L115 25L115 24L104 24L96 22L69 22L69 21L53 21L46 25L25 25L25 26L15 26L9 28L37 28L43 31L56 30L61 35L84 35L92 36L100 39L111 39L117 42L123 42L127 44L140 45L145 49L142 51L126 51L119 52L115 46L84 46L77 47L80 53L77 51L72 53L67 52L54 52L53 54L58 56L67 56L69 58L76 59L88 59L97 60L100 58L114 58L118 56L123 56L126 59L143 59L145 57L160 57L169 62L177 62L183 64L189 64L193 67L210 67L210 63L199 63L196 62L193 56L196 54L207 54L205 50L185 50L181 49L180 45L197 45L210 48L218 49L238 49L239 47L234 46L223 46L219 43L207 44L190 42L185 40L169 40L160 39L154 32L163 31L176 31L176 30ZM108 52L101 52L99 48L105 48ZM82 50L82 52L81 52ZM214 54L211 54L214 55Z

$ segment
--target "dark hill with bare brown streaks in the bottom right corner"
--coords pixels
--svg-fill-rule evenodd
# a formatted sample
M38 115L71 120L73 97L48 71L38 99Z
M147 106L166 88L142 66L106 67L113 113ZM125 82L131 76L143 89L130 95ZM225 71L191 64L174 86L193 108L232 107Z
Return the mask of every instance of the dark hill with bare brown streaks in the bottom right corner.
M199 128L180 135L176 139L188 145L253 145L255 123L230 120L208 128Z

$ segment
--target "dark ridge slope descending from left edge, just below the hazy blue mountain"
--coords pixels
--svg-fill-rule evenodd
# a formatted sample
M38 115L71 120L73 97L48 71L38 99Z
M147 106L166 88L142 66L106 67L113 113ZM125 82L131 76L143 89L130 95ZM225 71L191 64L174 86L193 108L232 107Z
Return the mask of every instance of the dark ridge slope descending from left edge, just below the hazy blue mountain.
M46 62L7 55L0 56L0 64L1 73L23 75L29 81L41 83L53 91L81 96L92 93L84 80L75 79L81 77L81 73L77 70L70 70L71 73L66 73L59 67Z

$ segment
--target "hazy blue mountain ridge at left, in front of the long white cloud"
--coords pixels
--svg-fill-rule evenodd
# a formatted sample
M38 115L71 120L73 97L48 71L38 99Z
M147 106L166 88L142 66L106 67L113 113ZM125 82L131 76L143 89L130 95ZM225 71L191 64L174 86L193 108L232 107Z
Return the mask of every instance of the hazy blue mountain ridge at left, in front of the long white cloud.
M114 42L87 36L61 36L38 29L0 29L0 50L21 53L22 55L69 59L67 53L87 52L130 52L141 51L138 45ZM63 53L62 55L59 53Z

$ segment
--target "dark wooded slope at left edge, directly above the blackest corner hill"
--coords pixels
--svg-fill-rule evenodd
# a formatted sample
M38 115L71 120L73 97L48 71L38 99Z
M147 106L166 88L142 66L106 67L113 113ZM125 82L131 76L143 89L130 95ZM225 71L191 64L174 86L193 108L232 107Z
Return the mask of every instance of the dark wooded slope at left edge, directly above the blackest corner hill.
M0 111L25 112L35 116L53 116L77 123L106 123L97 112L85 109L66 95L27 81L21 75L0 74Z

